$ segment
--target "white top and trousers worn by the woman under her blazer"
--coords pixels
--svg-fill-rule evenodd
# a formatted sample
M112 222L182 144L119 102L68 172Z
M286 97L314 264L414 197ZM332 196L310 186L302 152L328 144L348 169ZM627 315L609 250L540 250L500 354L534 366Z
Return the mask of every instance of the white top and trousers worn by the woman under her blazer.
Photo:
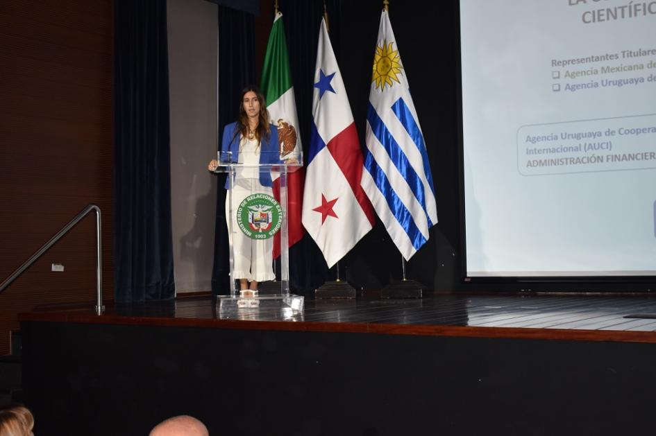
M233 182L233 213L230 213L230 195L226 193L226 216L230 217L228 238L230 246L233 247L233 279L275 280L276 274L274 274L272 259L274 238L251 239L237 225L237 206L244 198L254 193L274 195L271 187L260 184L258 139L241 138L237 162L244 164L244 167L237 169Z

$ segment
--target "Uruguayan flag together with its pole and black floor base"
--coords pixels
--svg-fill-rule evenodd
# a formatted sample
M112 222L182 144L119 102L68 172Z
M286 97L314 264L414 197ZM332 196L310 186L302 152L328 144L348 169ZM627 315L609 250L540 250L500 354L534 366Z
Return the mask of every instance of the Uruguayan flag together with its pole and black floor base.
M376 116L367 120L368 128L371 125L373 130L385 130L389 134L387 137L385 135L381 137L369 135L365 139L367 147L379 148L379 142L382 142L382 146L387 150L392 150L392 152L383 153L385 156L396 155L397 152L398 155L403 155L405 152L410 152L412 155L412 159L404 158L393 162L388 159L378 159L376 154L370 154L364 162L364 168L367 171L362 172L360 184L367 192L382 223L385 224L387 233L401 252L403 279L394 280L382 288L380 297L421 298L423 285L418 281L407 279L405 259L410 259L428 241L429 229L437 223L437 207L426 144L421 128L419 128L419 121L415 119L417 114L409 93L410 85L407 82L401 55L398 53L392 24L389 21L389 0L382 1L374 62L369 104L370 107L373 107L372 113L375 112ZM394 90L392 90L393 88ZM398 129L399 134L395 134L394 129L388 128L386 120L398 119L398 116L394 116L394 111L390 110L390 107L396 105L397 101L401 101L406 107L404 111L407 115L405 120L401 121L405 131L416 130L417 139L409 139L410 137L407 135L401 134L403 129ZM408 173L415 174L420 183L410 186L407 181L409 174L405 170L401 171L401 166L407 167ZM386 177L371 177L373 171L379 171ZM394 201L385 201L390 198ZM423 219L424 216L426 219ZM394 225L394 223L401 222L405 223L401 228Z

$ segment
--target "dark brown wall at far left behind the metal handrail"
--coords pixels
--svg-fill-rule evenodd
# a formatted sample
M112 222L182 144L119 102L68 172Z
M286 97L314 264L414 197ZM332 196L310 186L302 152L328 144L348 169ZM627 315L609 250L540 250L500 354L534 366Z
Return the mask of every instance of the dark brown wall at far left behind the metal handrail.
M112 10L110 0L3 1L0 280L94 203L103 213L103 289L113 295ZM85 218L0 294L0 355L17 313L94 304L94 223Z

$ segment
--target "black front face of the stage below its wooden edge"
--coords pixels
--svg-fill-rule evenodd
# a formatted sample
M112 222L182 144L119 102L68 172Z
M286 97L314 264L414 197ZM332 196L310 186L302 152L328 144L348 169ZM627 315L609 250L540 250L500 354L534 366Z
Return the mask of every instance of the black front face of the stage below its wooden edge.
M39 435L145 435L180 414L211 435L653 427L652 344L62 322L24 322L24 334Z

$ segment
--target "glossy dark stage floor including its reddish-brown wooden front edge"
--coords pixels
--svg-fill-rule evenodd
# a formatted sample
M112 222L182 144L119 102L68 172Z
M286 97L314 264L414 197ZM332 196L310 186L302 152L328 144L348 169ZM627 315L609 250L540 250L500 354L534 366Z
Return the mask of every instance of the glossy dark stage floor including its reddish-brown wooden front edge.
M302 312L249 308L223 316L210 297L91 308L43 308L24 321L214 326L227 329L335 331L494 338L656 342L650 295L464 295L423 299L305 299Z

